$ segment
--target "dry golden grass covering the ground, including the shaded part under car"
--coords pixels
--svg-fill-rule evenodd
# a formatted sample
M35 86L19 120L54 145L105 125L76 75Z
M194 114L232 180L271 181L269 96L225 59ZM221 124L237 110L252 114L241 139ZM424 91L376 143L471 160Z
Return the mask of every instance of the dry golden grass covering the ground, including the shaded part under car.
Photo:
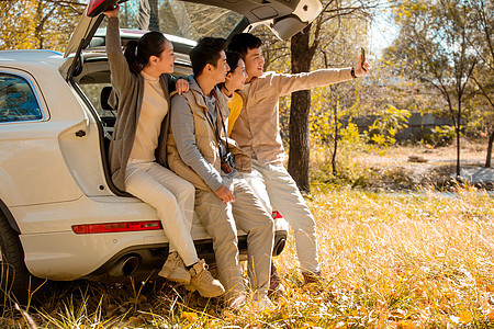
M27 314L38 328L494 328L494 198L457 192L314 191L327 282L301 286L290 239L276 260L285 294L260 314L165 281L59 285ZM26 319L5 307L0 327Z

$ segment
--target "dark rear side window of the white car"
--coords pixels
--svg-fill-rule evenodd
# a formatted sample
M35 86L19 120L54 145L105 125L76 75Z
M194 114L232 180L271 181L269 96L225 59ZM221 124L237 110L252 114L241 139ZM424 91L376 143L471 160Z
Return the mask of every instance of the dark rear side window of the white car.
M42 109L27 80L0 72L0 123L41 118Z

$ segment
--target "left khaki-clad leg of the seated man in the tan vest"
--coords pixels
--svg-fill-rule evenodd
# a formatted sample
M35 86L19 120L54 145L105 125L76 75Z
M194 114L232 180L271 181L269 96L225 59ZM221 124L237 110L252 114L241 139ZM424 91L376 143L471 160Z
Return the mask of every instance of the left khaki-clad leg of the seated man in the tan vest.
M237 229L232 205L224 204L214 193L195 191L195 213L213 238L213 249L220 282L226 291L226 300L245 294L242 268L238 260Z

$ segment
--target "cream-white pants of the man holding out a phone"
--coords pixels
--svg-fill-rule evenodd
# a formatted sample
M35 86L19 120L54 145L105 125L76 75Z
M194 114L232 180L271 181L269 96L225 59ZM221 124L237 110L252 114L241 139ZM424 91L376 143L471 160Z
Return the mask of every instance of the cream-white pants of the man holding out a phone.
M266 209L270 214L279 211L292 227L302 272L317 273L314 217L283 164L267 164L252 159L252 171L244 177Z

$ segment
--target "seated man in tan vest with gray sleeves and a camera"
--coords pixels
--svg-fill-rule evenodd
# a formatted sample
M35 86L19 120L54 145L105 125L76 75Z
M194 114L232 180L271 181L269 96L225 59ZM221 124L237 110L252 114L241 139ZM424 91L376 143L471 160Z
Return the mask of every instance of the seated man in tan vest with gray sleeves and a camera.
M225 81L228 71L224 47L224 39L206 37L190 53L194 75L189 79L189 91L171 98L168 164L195 186L195 213L213 238L228 306L238 308L246 298L238 260L238 227L247 232L254 303L265 308L272 306L267 292L274 224L237 171L250 171L250 157L225 137L222 109L226 103L217 98L221 91L215 87Z

